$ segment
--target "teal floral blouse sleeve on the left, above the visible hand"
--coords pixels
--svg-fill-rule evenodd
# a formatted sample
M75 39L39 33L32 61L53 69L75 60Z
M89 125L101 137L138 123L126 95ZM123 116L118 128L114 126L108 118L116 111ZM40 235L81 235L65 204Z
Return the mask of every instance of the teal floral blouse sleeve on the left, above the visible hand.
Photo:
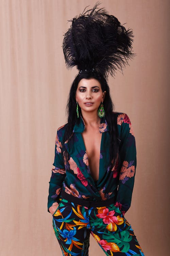
M60 130L60 128L58 128ZM66 177L66 170L64 165L64 159L62 154L62 143L58 136L58 130L55 139L55 157L52 169L51 178L49 181L49 196L48 196L48 212L49 207L59 202L59 196L62 189L62 183Z

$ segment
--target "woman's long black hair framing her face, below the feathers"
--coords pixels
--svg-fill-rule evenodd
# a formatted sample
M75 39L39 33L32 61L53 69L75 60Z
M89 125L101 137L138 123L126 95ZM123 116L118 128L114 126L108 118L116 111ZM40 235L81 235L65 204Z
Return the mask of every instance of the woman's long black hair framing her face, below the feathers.
M112 102L111 96L110 96L110 90L109 90L109 86L107 84L106 79L104 78L104 76L102 74L100 74L99 72L96 71L82 71L81 73L79 73L70 88L70 93L69 93L69 97L68 97L68 103L67 103L67 107L66 107L66 112L68 115L68 123L66 125L66 130L65 130L65 134L63 137L63 142L65 142L66 140L69 139L69 137L71 136L72 132L73 132L73 127L75 125L75 122L79 122L80 121L80 116L79 119L77 117L76 114L76 109L77 109L77 103L75 100L75 94L77 91L77 87L78 84L80 82L81 79L90 79L90 78L95 78L97 79L100 84L101 84L101 89L102 91L106 91L105 94L105 98L103 101L103 106L104 106L104 110L105 110L105 119L106 122L108 124L109 127L109 133L110 133L110 138L111 138L111 143L110 143L110 148L109 148L109 156L110 156L110 161L112 161L112 165L111 168L114 166L115 164L115 160L118 157L119 159L119 140L118 140L118 130L117 130L117 119L115 120L114 118L114 104ZM81 114L81 108L79 107L79 114ZM64 153L64 158L66 161L68 161L68 152L67 150L64 148L63 149L63 153ZM119 161L118 161L119 163Z

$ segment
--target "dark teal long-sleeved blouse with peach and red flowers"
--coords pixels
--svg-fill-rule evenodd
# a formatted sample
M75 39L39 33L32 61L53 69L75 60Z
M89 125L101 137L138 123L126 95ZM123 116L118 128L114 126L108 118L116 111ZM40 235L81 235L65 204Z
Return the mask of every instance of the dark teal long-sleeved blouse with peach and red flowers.
M59 202L61 190L84 200L101 201L113 199L115 206L122 214L128 211L131 205L132 191L136 171L136 144L133 127L127 114L114 112L117 119L119 133L120 167L116 161L111 169L109 162L109 127L105 118L101 118L99 132L102 133L100 147L99 179L94 181L90 175L88 157L82 132L85 129L83 118L73 127L70 138L63 142L65 127L57 130L55 140L55 158L52 175L49 181L48 212L49 207ZM66 162L62 147L65 145L69 153Z

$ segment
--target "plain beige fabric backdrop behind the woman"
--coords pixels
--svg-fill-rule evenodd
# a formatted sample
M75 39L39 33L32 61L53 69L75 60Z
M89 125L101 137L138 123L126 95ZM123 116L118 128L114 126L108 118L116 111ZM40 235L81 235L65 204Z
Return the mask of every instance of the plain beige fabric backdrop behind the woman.
M0 255L62 255L47 212L56 130L66 122L69 87L62 52L67 20L95 1L0 0ZM109 85L116 111L134 127L137 169L131 223L145 256L168 256L168 0L107 0L133 28L137 57ZM102 256L90 240L90 256Z

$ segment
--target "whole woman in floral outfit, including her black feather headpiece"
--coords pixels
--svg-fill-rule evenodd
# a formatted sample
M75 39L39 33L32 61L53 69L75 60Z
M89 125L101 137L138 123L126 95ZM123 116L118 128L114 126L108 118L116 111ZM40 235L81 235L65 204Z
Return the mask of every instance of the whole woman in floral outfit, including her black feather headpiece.
M67 67L79 73L68 122L57 130L48 212L63 255L87 256L91 233L106 255L143 256L124 217L136 171L133 128L127 114L113 112L107 84L108 72L132 57L133 36L97 6L72 20L63 42Z

